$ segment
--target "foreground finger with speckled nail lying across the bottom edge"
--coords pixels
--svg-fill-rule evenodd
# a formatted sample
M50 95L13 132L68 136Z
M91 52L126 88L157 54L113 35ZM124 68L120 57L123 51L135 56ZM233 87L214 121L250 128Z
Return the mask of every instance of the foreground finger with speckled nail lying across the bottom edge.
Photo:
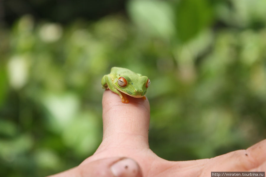
M142 177L140 166L130 158L106 158L82 163L50 177Z

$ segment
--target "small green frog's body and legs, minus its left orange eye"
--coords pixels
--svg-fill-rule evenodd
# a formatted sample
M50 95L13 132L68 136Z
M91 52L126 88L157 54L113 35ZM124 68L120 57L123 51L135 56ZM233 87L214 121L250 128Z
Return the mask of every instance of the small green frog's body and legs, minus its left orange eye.
M120 77L124 77L126 79L126 86L119 86L117 81ZM147 92L147 81L147 76L134 73L126 68L113 67L111 68L110 74L103 76L101 84L103 89L110 89L121 97L122 102L128 103L129 101L125 94L135 98L143 97L143 99L146 99L145 94Z

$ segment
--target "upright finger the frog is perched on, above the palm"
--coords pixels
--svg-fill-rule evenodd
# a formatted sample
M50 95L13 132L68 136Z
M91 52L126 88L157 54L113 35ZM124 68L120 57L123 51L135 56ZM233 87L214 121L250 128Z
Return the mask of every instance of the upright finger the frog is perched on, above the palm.
M150 104L148 99L128 96L129 103L122 103L119 95L110 90L103 93L103 141L135 140L148 147Z

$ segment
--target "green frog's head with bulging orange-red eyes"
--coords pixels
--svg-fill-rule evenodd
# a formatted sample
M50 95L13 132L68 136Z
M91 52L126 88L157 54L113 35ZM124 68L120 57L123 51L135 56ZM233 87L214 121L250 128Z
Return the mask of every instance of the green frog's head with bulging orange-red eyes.
M147 88L150 86L150 79L147 76L139 76L138 74L133 77L119 74L113 83L119 91L135 98L141 98L145 96Z

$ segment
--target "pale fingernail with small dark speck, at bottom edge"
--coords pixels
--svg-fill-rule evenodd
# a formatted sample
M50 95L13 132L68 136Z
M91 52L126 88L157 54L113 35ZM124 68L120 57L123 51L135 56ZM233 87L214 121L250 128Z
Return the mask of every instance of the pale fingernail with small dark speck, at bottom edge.
M119 160L111 166L111 171L115 177L137 177L139 170L139 165L129 158Z

